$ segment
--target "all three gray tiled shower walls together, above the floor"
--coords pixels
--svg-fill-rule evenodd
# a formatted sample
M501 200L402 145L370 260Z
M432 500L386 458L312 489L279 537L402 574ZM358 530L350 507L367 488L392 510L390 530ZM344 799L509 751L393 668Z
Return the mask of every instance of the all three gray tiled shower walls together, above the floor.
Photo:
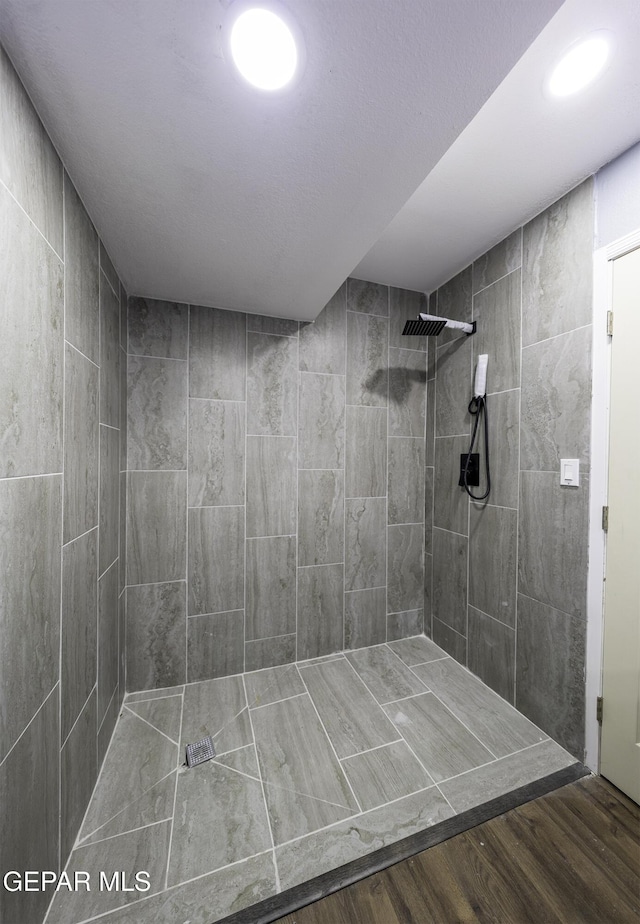
M125 691L422 632L582 759L593 181L431 294L472 338L403 338L424 296L355 279L313 324L128 299L0 68L3 871L64 867Z

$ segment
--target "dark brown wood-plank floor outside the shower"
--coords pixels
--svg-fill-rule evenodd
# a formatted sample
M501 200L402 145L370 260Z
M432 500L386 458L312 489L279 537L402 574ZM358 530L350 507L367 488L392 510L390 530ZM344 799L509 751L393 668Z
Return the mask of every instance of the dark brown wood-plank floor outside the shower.
M588 777L279 924L639 924L640 807Z

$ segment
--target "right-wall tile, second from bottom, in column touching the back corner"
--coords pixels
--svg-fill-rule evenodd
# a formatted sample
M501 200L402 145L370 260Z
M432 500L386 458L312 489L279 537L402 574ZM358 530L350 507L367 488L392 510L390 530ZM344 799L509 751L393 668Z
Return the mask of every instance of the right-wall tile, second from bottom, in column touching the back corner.
M433 531L433 615L460 635L467 634L468 539L444 529ZM446 645L434 641L445 650Z

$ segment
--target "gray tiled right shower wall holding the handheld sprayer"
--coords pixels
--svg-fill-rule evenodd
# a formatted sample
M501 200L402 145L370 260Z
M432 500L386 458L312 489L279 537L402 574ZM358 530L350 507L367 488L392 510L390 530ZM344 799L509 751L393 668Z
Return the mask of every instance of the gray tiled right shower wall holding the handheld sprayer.
M430 296L478 330L433 341L425 481L426 633L579 759L593 209L588 180ZM492 487L475 503L457 482L481 353ZM561 458L580 459L578 488L560 486Z

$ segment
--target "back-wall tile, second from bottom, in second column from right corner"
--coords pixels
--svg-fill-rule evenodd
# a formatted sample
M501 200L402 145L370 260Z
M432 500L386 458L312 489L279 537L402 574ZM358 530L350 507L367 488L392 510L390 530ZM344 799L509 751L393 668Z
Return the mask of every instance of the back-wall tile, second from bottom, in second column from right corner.
M387 583L386 520L386 498L355 497L346 500L346 590L383 587Z

